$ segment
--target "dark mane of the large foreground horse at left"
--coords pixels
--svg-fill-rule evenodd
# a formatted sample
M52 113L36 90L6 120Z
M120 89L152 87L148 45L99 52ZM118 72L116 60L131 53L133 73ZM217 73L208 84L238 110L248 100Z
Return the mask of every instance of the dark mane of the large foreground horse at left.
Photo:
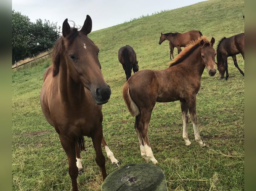
M66 43L69 47L74 39L78 36L79 32L77 28L71 28L70 33L66 37ZM60 56L63 54L63 50L65 49L63 36L61 36L55 43L52 50L52 65L53 65L53 77L59 73L59 62Z

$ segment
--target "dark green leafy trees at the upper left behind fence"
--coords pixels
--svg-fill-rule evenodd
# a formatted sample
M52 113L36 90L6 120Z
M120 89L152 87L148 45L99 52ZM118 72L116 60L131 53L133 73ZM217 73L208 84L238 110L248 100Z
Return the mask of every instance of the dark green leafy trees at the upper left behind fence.
M60 26L49 20L31 22L28 16L12 10L12 62L52 48L60 36Z

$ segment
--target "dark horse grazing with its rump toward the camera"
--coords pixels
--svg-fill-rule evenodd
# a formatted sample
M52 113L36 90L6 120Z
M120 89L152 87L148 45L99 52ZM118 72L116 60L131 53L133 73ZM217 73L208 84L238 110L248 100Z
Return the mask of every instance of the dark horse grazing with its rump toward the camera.
M131 77L132 70L133 74L139 71L137 55L131 46L126 45L119 49L118 60L123 66L126 81Z

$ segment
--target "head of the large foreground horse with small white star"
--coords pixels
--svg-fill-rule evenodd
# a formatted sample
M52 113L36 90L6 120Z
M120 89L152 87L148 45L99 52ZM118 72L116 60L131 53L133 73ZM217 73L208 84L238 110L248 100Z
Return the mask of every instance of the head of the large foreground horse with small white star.
M62 25L63 55L67 63L68 75L91 91L97 104L108 102L111 90L105 82L98 59L99 48L88 38L92 30L92 19L87 15L80 31L70 28L68 19Z

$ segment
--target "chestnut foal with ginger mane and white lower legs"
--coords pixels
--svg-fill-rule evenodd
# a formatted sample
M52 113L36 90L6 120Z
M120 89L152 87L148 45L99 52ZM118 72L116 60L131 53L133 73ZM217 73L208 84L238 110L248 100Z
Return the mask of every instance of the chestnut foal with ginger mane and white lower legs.
M132 116L135 116L135 130L138 135L142 157L157 163L148 139L148 125L156 102L180 100L183 119L183 139L190 145L187 135L188 110L193 123L195 139L202 146L196 113L196 95L200 89L201 76L205 67L210 76L216 74L213 48L215 39L209 42L205 37L191 43L165 70L141 70L135 73L123 86L123 98Z

